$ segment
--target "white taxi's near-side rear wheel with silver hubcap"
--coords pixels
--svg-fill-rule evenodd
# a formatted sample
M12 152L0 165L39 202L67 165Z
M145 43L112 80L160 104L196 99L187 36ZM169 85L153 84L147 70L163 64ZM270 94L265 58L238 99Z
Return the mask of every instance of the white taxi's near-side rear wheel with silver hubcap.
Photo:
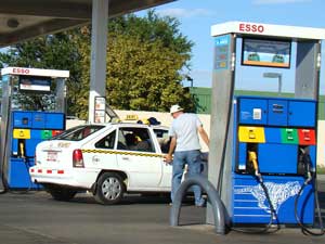
M126 192L121 177L116 172L104 172L98 179L94 198L103 205L117 204Z

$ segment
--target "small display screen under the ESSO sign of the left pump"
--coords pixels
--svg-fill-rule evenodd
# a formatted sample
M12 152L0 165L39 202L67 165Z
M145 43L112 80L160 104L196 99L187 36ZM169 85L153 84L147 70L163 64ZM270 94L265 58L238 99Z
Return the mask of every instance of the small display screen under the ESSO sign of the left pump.
M20 76L20 91L50 93L51 78L41 76Z

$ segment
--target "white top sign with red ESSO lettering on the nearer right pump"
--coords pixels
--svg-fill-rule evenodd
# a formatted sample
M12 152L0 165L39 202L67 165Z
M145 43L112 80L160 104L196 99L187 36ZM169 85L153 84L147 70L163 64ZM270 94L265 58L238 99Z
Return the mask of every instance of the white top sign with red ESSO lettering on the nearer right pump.
M286 39L311 39L324 40L324 28L270 25L249 22L225 22L211 26L211 36L221 36L226 34L237 34L247 36L269 36Z

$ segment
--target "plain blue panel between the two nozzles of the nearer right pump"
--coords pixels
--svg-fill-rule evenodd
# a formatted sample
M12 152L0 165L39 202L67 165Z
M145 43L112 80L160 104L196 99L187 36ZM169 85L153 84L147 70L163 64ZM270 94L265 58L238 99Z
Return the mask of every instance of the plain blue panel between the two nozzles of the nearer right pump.
M297 174L298 145L259 144L258 162L261 174Z

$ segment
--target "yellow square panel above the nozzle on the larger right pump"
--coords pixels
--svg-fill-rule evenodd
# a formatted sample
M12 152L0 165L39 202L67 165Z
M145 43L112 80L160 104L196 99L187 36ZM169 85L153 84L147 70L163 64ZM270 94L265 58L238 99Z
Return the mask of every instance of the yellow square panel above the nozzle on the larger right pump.
M239 142L255 142L255 143L264 143L264 128L263 127L249 127L249 126L239 126Z

